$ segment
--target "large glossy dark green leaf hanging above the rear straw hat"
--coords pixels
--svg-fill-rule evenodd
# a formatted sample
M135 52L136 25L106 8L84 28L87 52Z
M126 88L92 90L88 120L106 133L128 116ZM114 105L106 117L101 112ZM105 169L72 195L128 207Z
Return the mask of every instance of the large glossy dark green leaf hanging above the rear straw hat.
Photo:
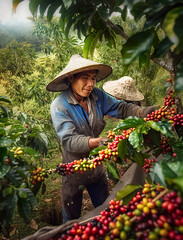
M121 51L123 65L129 65L137 57L150 52L155 37L156 33L153 29L132 35L123 45Z

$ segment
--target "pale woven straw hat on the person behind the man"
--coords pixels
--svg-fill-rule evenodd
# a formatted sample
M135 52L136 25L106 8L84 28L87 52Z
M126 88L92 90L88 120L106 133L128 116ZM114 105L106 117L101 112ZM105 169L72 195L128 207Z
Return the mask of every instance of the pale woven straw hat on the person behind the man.
M105 82L103 89L110 95L125 101L141 101L144 99L143 94L136 89L133 79L128 76Z

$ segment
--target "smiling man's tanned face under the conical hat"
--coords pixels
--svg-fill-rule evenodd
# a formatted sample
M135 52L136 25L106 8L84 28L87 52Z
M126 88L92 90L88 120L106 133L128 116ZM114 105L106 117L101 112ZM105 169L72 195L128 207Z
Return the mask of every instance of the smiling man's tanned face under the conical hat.
M79 94L81 98L88 97L95 87L96 84L97 72L96 70L85 71L72 76L70 78L71 86L74 92ZM76 99L79 99L79 96L75 94Z

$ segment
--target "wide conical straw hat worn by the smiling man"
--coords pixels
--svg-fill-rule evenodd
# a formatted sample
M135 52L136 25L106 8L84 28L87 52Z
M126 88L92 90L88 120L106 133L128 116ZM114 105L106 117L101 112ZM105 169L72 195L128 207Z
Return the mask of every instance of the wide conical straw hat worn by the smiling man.
M112 72L112 68L109 65L100 64L75 54L70 58L67 66L46 86L46 90L51 92L63 91L69 87L67 78L70 75L89 70L98 70L97 82L106 78Z

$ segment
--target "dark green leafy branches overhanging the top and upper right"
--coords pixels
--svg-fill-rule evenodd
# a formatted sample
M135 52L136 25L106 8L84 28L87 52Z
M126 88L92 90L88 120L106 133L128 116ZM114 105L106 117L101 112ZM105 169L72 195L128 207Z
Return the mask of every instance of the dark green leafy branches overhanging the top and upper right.
M15 7L20 0L13 0ZM60 25L66 36L70 29L85 37L84 56L93 54L98 41L105 39L115 48L116 35L125 39L122 45L122 64L127 69L139 59L139 65L150 60L170 72L176 91L183 90L183 3L181 0L30 0L29 8L34 17L38 10L50 21L59 8ZM113 13L126 19L127 9L135 20L145 16L143 29L131 36L111 21ZM163 32L163 34L160 34Z

